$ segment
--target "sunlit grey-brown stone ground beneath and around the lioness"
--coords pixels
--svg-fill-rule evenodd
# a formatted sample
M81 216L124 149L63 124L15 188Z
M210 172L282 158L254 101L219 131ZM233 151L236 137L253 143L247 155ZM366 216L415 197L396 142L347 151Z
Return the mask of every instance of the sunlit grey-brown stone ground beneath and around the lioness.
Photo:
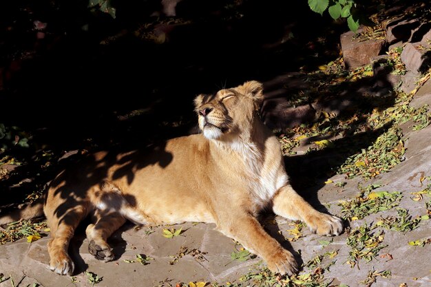
M412 105L431 103L431 83L428 81L419 89L414 97ZM403 198L400 207L408 209L412 217L425 215L425 202L430 197L423 195L419 201L412 200L412 192L422 191L430 182L423 178L431 175L431 126L420 131L412 131L408 123L405 127L406 159L397 165L389 173L368 180L361 178L347 180L345 187L337 187L335 184L345 181L343 176L337 175L330 180L333 183L326 184L317 191L317 199L328 211L334 215L340 215L340 200L349 200L359 194L358 184L382 184L377 191L400 191ZM313 188L312 188L313 189ZM381 216L396 215L396 210L384 211L375 215L369 215L363 220L354 220L350 228L357 228L367 222L376 222ZM333 257L336 262L324 274L326 282L332 286L365 286L359 284L368 277L370 271L381 272L390 270L391 277L377 276L375 286L431 286L430 254L431 244L425 246L410 246L408 242L427 239L431 237L431 220L424 220L419 228L407 233L399 231L385 231L379 256L366 263L363 259L354 268L346 263L351 248L346 244L346 232L333 237L320 237L304 231L303 237L295 242L282 240L282 236L289 237L288 230L293 226L292 222L280 217L265 215L262 222L267 230L282 242L287 248L296 251L299 262L309 262L317 255L337 251ZM244 284L240 277L251 272L258 272L262 267L260 258L247 259L244 262L231 259L231 253L240 251L240 247L214 230L214 224L180 224L176 226L157 226L154 228L135 228L132 224L126 224L116 232L110 240L116 251L117 257L113 262L100 262L94 259L87 251L87 240L83 231L71 244L70 251L76 262L76 275L59 276L47 268L48 253L46 244L50 239L41 238L29 244L25 239L12 244L0 246L0 273L3 281L0 286L91 286L87 275L83 271L90 271L103 280L96 286L176 286L180 282L188 284L192 282L211 282L212 284ZM162 236L163 228L182 228L182 233L173 238ZM323 240L323 241L322 241ZM330 241L333 240L333 241ZM329 241L324 243L324 241ZM187 248L187 251L185 251ZM180 253L185 253L180 256ZM300 253L300 255L299 255ZM146 255L152 259L146 265L139 262L125 262L134 260L136 255ZM177 259L174 264L174 259ZM327 258L322 263L325 263ZM329 262L329 261L328 261ZM302 273L310 272L310 268L304 267ZM248 284L253 286L253 282ZM405 285L402 285L405 284ZM37 285L36 285L37 286Z

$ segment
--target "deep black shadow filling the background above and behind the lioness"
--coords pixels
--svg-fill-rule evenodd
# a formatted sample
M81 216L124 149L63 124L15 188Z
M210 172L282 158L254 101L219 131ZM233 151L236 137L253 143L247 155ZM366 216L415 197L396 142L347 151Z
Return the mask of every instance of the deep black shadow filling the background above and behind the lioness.
M307 1L184 0L178 23L162 28L167 41L156 44L142 31L169 20L150 16L159 1L118 1L116 19L90 11L87 1L9 2L0 8L0 122L43 129L44 143L65 150L85 138L146 140L168 129L162 122L182 120L188 131L197 94L326 63L347 29L311 12ZM48 23L45 39L36 39L36 20ZM136 109L145 113L120 117Z

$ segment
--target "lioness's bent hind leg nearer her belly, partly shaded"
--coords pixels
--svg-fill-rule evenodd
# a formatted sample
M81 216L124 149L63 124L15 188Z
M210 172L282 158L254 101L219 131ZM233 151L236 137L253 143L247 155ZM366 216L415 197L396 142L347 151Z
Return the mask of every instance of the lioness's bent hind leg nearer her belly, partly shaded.
M96 223L87 226L85 231L89 240L88 251L96 259L105 262L112 261L114 253L109 244L107 244L107 239L126 222L126 219L117 211L101 211L99 209L96 209L94 217Z

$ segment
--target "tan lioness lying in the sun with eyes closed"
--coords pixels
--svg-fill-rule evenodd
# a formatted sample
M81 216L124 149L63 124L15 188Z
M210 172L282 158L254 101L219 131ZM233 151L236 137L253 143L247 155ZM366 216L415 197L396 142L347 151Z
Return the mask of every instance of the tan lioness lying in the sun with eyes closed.
M303 220L319 235L338 235L338 217L313 209L289 185L280 143L260 121L262 83L249 81L194 100L201 134L151 151L98 152L50 184L44 212L52 231L50 268L72 274L67 254L87 215L92 255L114 259L107 238L126 220L138 224L214 222L218 231L262 257L280 274L297 272L293 255L264 231L263 209Z

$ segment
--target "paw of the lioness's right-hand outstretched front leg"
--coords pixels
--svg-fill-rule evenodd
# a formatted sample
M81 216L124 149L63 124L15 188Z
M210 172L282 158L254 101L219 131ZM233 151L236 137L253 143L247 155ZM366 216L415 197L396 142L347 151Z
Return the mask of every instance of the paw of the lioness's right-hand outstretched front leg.
M318 235L333 236L339 235L343 231L341 218L320 212L312 215L306 224Z

